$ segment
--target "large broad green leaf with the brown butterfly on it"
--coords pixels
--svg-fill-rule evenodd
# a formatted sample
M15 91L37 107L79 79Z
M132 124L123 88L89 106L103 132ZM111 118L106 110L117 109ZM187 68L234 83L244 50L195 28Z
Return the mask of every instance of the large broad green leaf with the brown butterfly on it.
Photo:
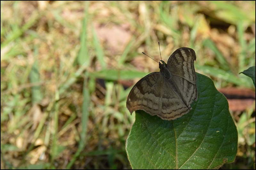
M166 121L136 112L126 142L133 169L216 169L235 160L237 130L227 99L210 78L196 76L198 100L188 114Z

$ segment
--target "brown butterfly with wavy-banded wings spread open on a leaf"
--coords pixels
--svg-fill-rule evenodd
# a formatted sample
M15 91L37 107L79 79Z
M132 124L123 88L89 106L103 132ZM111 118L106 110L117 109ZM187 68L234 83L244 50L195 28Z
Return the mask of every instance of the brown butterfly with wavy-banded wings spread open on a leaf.
M129 93L126 107L130 113L144 110L164 120L188 113L197 100L195 60L195 51L185 47L173 52L167 64L160 60L160 72L140 79Z

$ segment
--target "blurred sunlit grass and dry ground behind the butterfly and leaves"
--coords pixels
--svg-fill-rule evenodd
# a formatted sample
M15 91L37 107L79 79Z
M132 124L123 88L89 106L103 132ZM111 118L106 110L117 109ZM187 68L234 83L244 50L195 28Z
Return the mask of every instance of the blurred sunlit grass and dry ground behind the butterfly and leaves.
M1 1L1 169L131 168L132 85L180 47L228 98L255 167L255 1ZM136 148L135 148L136 149Z

